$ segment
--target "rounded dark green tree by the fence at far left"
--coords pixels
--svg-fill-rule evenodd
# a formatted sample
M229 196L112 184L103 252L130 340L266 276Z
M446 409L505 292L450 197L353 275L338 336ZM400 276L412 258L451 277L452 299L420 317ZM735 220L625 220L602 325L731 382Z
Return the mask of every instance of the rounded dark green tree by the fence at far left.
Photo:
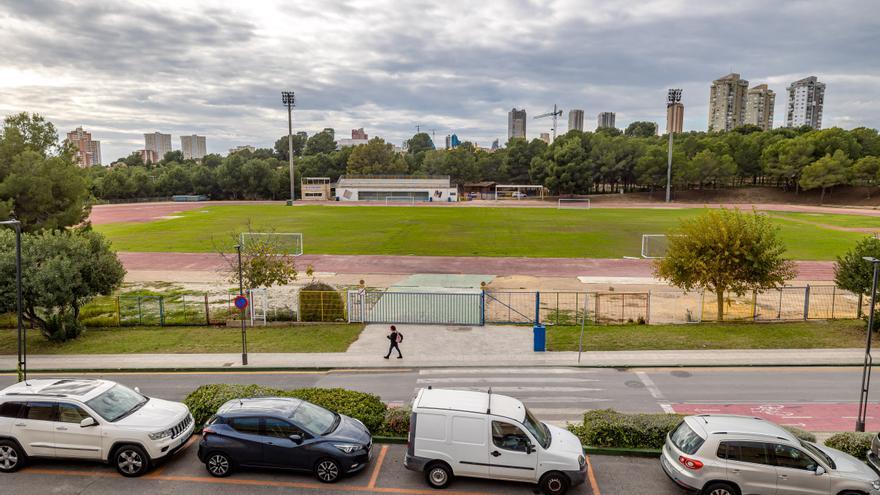
M15 311L15 238L0 231L0 313ZM101 235L87 229L22 236L24 317L52 341L76 338L79 311L122 285L125 269Z

